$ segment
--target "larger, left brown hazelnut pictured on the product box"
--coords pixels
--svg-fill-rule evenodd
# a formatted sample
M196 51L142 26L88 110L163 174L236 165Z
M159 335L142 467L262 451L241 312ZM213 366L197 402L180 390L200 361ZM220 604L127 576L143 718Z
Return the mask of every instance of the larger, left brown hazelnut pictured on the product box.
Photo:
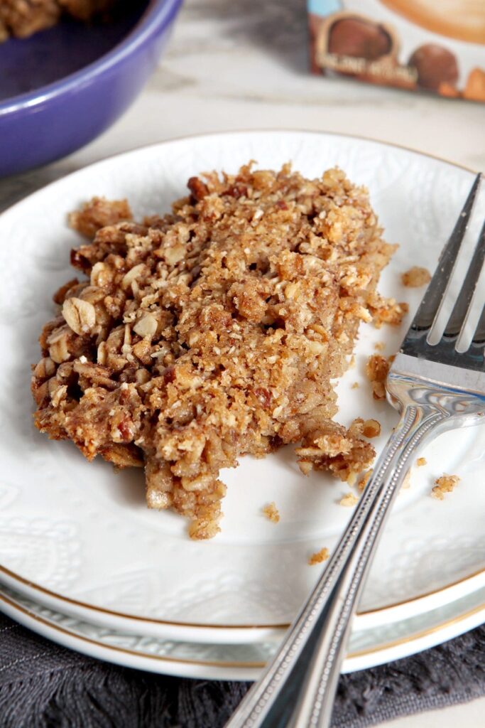
M342 17L329 28L327 52L333 55L377 60L391 48L392 39L385 28L364 18Z

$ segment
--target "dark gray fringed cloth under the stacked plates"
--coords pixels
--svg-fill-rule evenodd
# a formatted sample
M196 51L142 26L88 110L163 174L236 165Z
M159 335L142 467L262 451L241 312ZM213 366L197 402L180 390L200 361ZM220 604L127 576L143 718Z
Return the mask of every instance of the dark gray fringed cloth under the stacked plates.
M249 685L140 672L71 652L0 614L1 728L222 728ZM485 694L485 626L340 678L333 728Z

